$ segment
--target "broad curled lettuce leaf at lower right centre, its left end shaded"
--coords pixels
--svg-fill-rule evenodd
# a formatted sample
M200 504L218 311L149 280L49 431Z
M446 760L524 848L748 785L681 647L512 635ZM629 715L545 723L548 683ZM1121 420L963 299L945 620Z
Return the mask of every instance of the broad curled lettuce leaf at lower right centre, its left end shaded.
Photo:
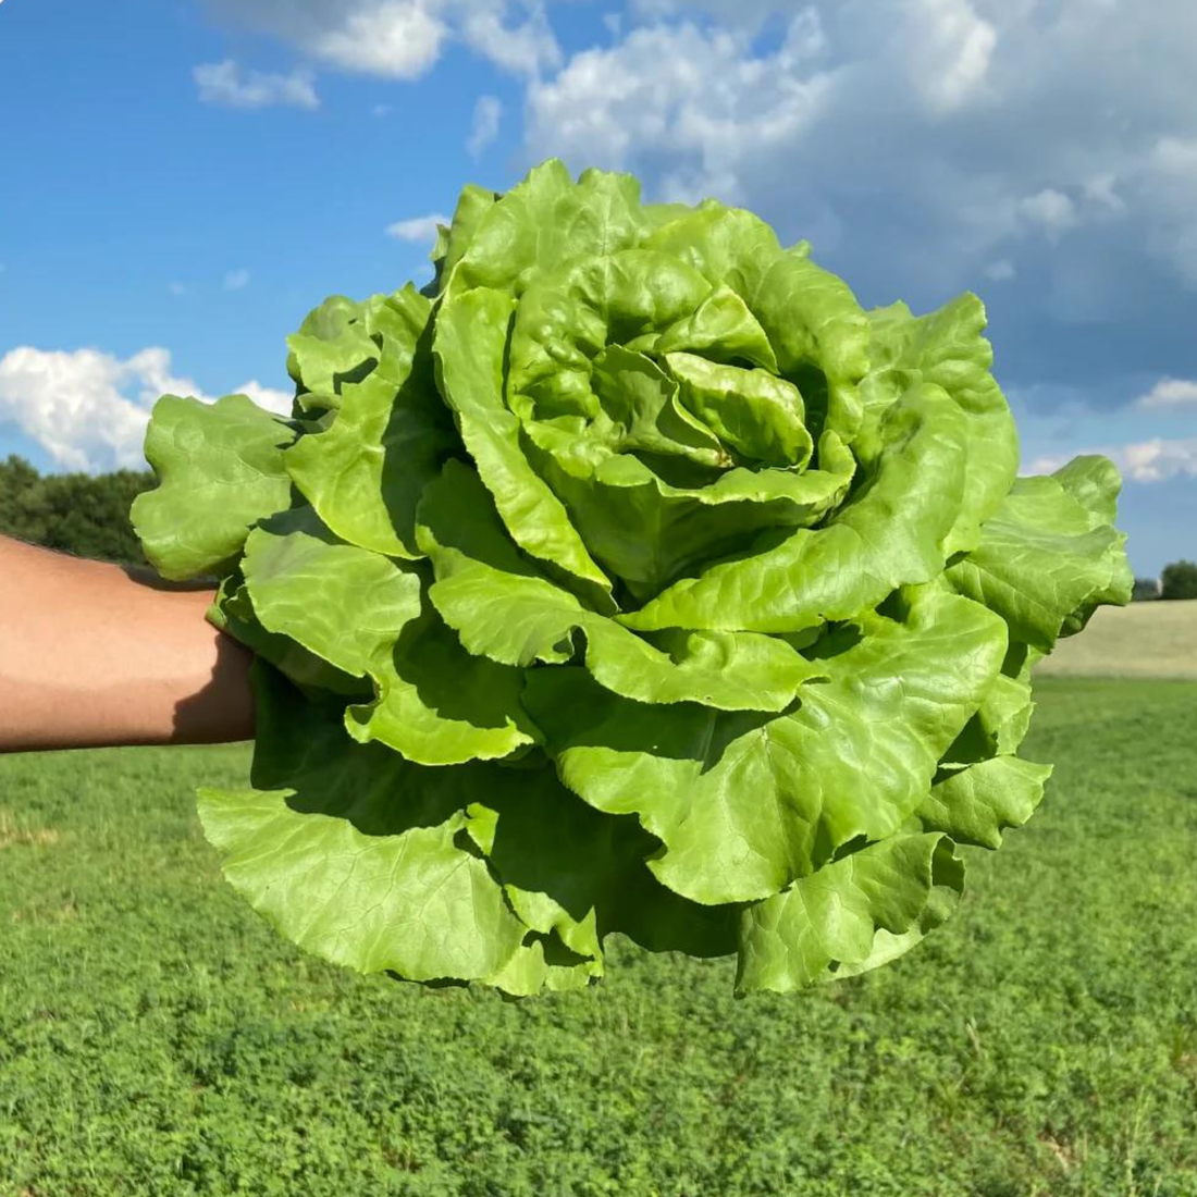
M700 903L761 899L901 826L1005 654L999 619L935 590L904 622L863 631L777 716L631 703L569 668L531 672L525 705L561 780L662 841L664 885Z

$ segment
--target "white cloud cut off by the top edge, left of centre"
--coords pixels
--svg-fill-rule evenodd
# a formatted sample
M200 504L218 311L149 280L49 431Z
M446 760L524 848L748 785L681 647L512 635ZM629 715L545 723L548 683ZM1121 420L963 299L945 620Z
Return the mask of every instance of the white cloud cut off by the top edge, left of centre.
M208 0L208 6L317 61L385 79L419 79L452 42L522 75L561 57L545 5L530 0Z

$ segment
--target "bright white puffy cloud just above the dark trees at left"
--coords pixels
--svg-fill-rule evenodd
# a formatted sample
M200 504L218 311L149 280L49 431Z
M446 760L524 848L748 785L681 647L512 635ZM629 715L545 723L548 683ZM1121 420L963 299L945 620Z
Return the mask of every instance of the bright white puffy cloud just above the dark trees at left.
M256 403L288 415L291 396L256 381L238 388ZM119 358L99 350L22 346L0 358L0 421L16 424L66 469L144 469L142 440L160 395L206 395L176 376L159 347Z

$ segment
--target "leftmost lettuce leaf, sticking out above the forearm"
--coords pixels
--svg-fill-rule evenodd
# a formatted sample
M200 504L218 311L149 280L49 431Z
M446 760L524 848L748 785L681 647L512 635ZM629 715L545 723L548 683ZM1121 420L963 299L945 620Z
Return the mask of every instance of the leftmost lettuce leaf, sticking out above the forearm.
M250 528L287 506L287 424L245 395L214 403L163 395L146 432L158 487L133 502L146 557L175 581L229 573Z

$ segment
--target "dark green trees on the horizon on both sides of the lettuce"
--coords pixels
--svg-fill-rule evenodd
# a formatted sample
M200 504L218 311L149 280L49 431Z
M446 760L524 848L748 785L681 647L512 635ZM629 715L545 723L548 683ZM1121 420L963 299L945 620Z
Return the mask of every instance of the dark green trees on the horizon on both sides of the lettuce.
M129 504L154 486L150 470L41 474L24 457L0 462L0 533L75 557L146 565ZM1197 564L1173 561L1136 578L1135 598L1197 598Z

